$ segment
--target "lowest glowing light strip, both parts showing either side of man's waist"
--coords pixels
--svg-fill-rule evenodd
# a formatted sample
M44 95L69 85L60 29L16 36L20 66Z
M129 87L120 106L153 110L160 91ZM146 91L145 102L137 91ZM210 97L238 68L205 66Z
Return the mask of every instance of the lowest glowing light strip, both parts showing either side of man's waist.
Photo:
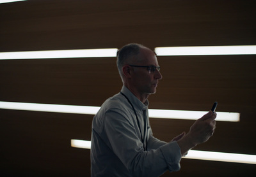
M91 148L91 141L71 139L71 146L74 148ZM244 164L256 164L256 155L247 155L239 153L207 152L198 150L189 150L186 159L214 160L221 162L237 162Z

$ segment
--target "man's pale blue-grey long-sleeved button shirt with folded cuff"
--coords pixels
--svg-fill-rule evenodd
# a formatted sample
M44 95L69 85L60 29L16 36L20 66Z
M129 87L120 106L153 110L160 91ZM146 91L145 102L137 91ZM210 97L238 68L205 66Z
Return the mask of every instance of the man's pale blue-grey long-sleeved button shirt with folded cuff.
M180 147L176 141L154 138L148 101L143 104L124 86L121 92L127 99L120 93L110 97L93 118L91 176L160 176L166 170L179 171Z

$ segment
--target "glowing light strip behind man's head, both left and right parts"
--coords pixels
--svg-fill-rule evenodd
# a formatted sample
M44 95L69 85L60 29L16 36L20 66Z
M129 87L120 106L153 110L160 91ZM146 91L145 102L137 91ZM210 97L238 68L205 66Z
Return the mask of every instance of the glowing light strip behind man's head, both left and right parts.
M0 52L0 60L116 57L117 48ZM159 56L172 55L255 55L256 45L156 47Z

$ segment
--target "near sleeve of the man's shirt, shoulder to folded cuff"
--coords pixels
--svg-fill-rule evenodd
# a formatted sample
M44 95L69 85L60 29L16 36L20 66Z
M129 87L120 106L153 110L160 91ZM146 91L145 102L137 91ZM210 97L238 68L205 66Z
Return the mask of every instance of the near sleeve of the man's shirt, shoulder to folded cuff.
M160 176L167 169L180 169L180 148L176 142L166 143L155 150L144 151L136 129L122 110L105 113L103 131L107 145L133 176Z

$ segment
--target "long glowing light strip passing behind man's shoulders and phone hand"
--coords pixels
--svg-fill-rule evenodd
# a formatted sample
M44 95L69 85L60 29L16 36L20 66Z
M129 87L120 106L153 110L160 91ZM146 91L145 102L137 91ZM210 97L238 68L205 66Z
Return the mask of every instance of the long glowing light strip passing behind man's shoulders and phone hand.
M95 115L99 111L99 106L74 106L63 104L39 104L39 103L17 103L0 101L0 109L26 110L26 111L46 111L55 113L77 113ZM154 110L148 109L149 117L152 118L173 118L184 120L197 120L207 111L179 111L179 110ZM217 112L217 121L239 122L239 113Z

